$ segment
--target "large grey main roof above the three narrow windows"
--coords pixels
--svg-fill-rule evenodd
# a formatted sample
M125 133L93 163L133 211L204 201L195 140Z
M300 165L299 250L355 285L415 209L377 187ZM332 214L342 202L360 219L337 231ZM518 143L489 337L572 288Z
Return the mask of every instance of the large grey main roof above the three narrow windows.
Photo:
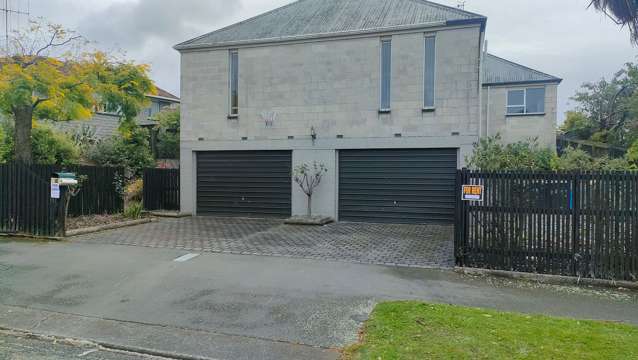
M177 50L387 30L485 25L487 18L425 0L299 0L257 17L188 40Z

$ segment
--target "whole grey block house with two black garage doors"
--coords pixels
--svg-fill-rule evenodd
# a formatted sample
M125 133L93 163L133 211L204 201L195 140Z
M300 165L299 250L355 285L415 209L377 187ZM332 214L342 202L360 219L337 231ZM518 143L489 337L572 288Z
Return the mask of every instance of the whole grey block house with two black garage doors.
M317 161L315 214L452 223L480 136L555 136L560 80L486 54L486 23L422 0L302 0L176 45L182 211L304 215L291 170Z

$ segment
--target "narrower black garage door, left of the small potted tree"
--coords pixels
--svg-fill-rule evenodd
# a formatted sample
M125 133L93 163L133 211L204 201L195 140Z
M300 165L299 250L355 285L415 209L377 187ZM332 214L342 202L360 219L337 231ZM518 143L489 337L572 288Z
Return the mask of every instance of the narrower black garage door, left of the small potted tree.
M197 213L288 217L291 213L290 151L197 153Z

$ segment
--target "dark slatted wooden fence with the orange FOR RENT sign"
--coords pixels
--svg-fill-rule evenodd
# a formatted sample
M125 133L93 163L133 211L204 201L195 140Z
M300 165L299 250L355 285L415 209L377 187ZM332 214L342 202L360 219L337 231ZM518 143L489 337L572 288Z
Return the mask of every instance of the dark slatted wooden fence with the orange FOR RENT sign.
M637 173L485 173L483 202L458 197L459 266L638 280Z

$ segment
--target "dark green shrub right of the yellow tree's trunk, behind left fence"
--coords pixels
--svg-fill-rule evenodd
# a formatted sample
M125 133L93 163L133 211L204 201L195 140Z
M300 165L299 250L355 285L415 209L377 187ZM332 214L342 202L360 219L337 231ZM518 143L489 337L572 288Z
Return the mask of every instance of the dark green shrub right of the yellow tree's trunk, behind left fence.
M89 149L87 158L99 166L124 167L127 177L140 177L145 168L154 167L155 160L142 129L129 136L115 135Z

